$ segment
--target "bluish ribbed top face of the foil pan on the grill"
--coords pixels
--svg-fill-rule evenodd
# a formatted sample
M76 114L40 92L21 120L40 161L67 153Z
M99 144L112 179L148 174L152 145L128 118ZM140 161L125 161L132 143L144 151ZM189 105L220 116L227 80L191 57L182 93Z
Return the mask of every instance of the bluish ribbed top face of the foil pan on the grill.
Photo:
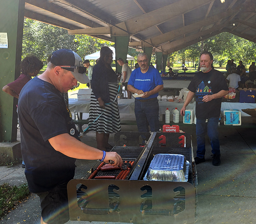
M152 159L149 170L180 171L186 166L185 156L180 154L156 154Z

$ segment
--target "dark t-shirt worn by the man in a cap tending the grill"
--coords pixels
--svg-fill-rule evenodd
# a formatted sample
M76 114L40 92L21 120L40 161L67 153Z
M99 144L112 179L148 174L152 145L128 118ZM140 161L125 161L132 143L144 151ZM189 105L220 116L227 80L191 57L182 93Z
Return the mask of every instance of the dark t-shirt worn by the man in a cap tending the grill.
M48 141L63 133L78 139L72 115L60 92L52 84L33 78L20 92L18 115L30 192L49 191L73 179L76 159L56 151Z

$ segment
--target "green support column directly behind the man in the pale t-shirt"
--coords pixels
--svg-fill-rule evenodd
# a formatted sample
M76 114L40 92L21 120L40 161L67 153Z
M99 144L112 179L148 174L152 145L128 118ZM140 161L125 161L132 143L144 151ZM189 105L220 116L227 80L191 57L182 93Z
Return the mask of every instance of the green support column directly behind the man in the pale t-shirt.
M128 52L128 46L129 46L129 40L130 36L111 36L112 40L115 42L115 49L116 49L116 73L122 72L122 67L118 65L117 59L122 58L126 60L127 52Z

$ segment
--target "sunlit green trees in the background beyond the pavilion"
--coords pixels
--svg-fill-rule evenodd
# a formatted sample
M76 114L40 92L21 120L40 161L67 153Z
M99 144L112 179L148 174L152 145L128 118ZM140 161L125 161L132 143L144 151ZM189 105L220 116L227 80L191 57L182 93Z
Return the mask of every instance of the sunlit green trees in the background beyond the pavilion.
M68 35L66 29L24 19L22 59L34 55L46 61L53 51L61 48L72 49L84 59L85 55L99 51L102 46L115 44L86 35ZM194 67L195 63L199 63L201 50L212 52L213 63L220 67L225 67L228 59L234 59L236 63L242 60L244 66L256 59L256 43L223 32L168 55L168 65L173 67L173 63L179 62L180 65L184 63L187 67ZM128 49L128 54L135 57L135 60L138 53L135 49ZM151 61L154 63L155 60L156 56L152 55Z

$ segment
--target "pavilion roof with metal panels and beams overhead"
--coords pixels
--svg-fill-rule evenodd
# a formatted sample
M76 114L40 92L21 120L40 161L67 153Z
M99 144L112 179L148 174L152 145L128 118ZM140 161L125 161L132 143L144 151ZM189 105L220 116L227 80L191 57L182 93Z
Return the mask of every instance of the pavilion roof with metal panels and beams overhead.
M256 42L256 0L26 0L25 17L169 54L229 32Z

